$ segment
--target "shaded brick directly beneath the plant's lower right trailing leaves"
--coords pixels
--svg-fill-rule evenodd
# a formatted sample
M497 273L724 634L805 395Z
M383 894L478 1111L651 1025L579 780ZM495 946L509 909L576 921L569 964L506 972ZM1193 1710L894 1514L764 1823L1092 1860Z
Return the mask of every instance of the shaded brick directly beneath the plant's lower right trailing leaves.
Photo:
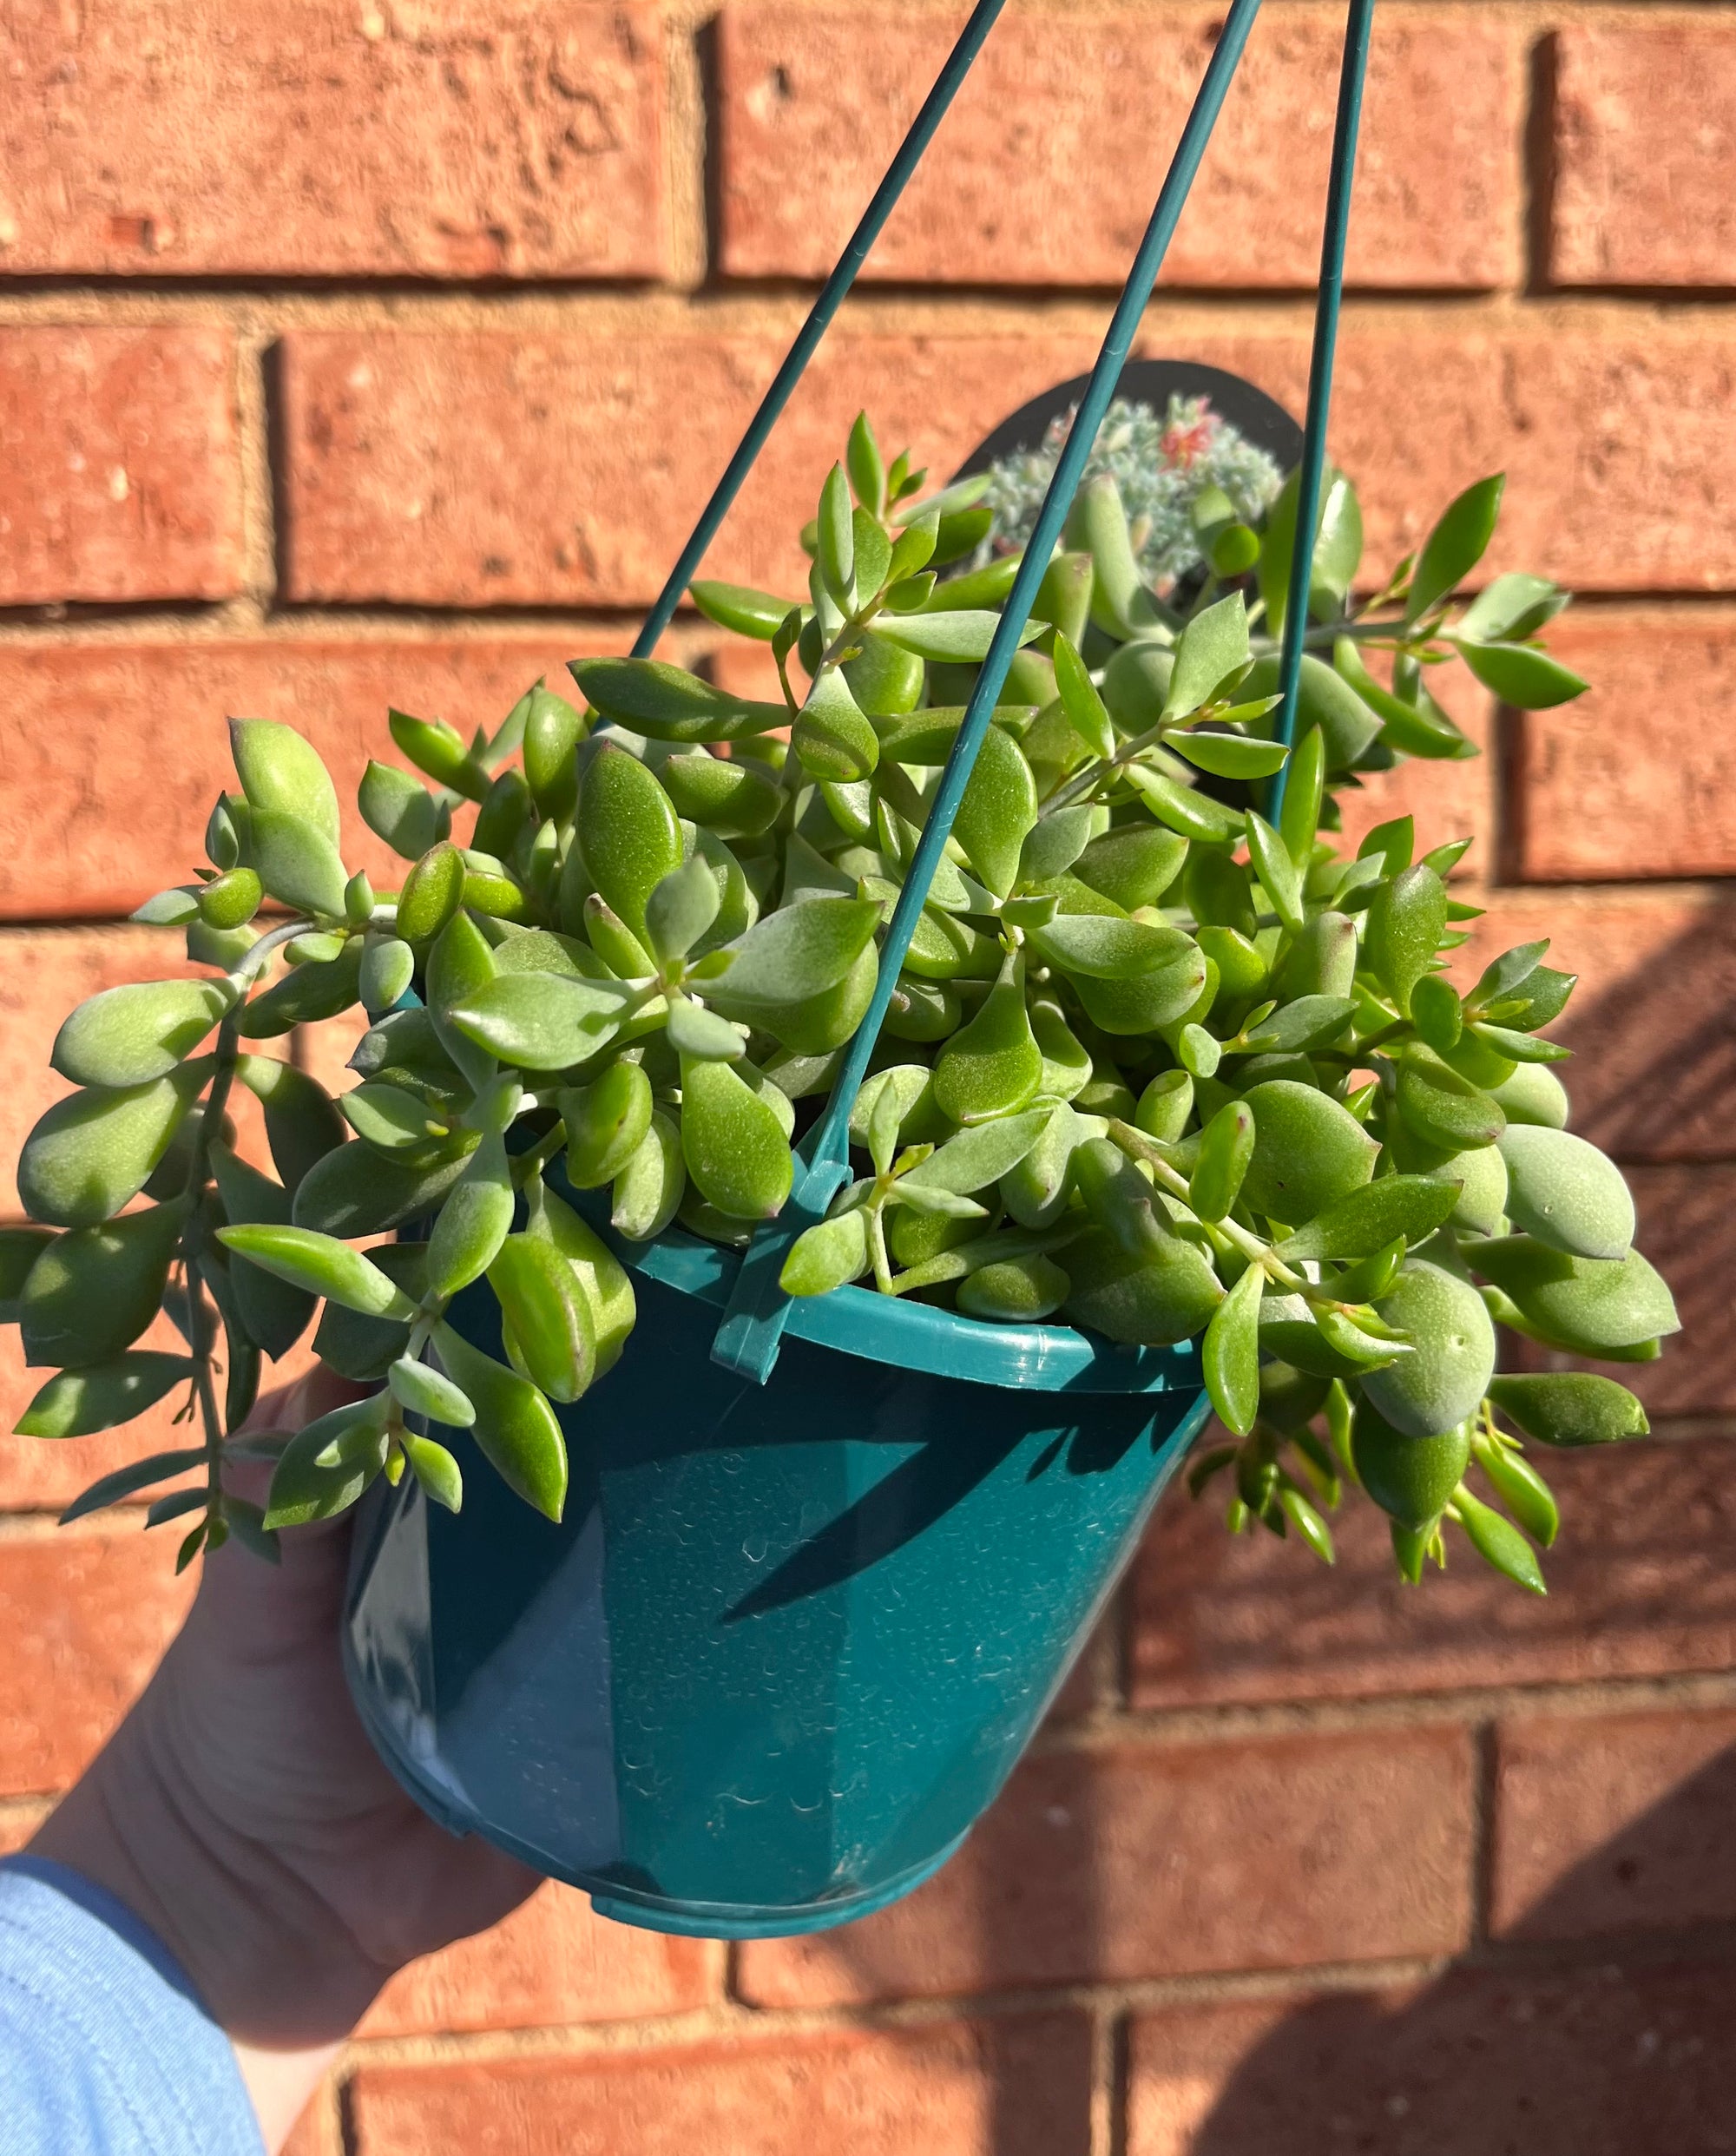
M1540 1449L1542 1451L1542 1449ZM1723 1438L1548 1453L1561 1539L1548 1600L1462 1544L1421 1587L1393 1574L1382 1516L1348 1498L1339 1561L1238 1539L1223 1507L1167 1501L1134 1572L1132 1703L1199 1708L1583 1684L1736 1667L1736 1488Z

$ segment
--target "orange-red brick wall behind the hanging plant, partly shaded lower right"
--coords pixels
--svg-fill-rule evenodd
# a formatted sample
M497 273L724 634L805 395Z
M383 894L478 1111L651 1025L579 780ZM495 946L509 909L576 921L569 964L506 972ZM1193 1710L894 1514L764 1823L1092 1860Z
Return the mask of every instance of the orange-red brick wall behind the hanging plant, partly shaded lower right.
M22 0L0 24L0 1158L58 1013L160 964L220 718L354 780L619 647L960 6ZM936 468L1093 349L1216 9L1024 0L718 545L787 580L841 429ZM1270 0L1141 347L1300 403L1341 11ZM1372 552L1486 470L1587 593L1563 711L1462 705L1505 940L1686 1337L1566 1460L1538 1604L1184 1503L1037 1755L850 1932L669 1943L548 1889L390 1988L300 2156L1645 2156L1736 2113L1736 6L1389 0L1337 451ZM675 632L705 649L699 623ZM11 1201L0 1194L0 1207ZM4 1371L6 1401L22 1393ZM155 1432L0 1440L0 1837L123 1710L168 1552L52 1511Z

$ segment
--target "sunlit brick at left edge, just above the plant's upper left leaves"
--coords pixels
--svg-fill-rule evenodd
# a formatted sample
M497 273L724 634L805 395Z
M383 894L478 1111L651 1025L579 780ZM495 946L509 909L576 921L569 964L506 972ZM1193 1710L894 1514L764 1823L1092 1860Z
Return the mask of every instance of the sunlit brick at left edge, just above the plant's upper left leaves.
M602 647L608 638L593 636ZM386 707L466 735L520 692L565 679L580 638L224 640L0 645L0 921L123 914L203 860L229 763L224 716L302 727L345 804L345 849L395 886L392 858L354 811L369 757L401 761ZM401 867L401 865L399 865Z

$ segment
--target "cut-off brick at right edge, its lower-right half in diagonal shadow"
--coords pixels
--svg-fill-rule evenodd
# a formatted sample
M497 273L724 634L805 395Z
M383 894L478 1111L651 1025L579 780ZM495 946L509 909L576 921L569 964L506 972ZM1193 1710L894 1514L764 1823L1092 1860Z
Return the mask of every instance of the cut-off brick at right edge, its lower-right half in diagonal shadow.
M1736 1714L1503 1723L1492 1910L1516 1938L1736 1917Z

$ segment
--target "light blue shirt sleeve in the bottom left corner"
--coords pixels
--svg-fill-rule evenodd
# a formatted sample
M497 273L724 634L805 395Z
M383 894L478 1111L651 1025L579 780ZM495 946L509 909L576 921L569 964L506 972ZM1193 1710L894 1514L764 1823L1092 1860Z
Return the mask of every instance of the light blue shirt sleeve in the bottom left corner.
M0 1863L0 2152L263 2156L229 2037L114 1895Z

